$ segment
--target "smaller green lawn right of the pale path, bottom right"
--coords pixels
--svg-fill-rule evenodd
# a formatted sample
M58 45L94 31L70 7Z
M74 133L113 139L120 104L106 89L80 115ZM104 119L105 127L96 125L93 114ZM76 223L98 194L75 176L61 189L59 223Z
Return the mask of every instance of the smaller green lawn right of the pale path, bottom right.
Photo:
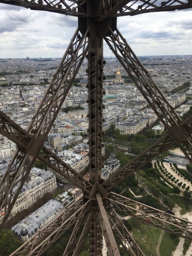
M162 256L172 255L172 252L175 251L177 246L174 245L174 238L168 232L164 232L164 236L161 240L159 247L159 252Z

